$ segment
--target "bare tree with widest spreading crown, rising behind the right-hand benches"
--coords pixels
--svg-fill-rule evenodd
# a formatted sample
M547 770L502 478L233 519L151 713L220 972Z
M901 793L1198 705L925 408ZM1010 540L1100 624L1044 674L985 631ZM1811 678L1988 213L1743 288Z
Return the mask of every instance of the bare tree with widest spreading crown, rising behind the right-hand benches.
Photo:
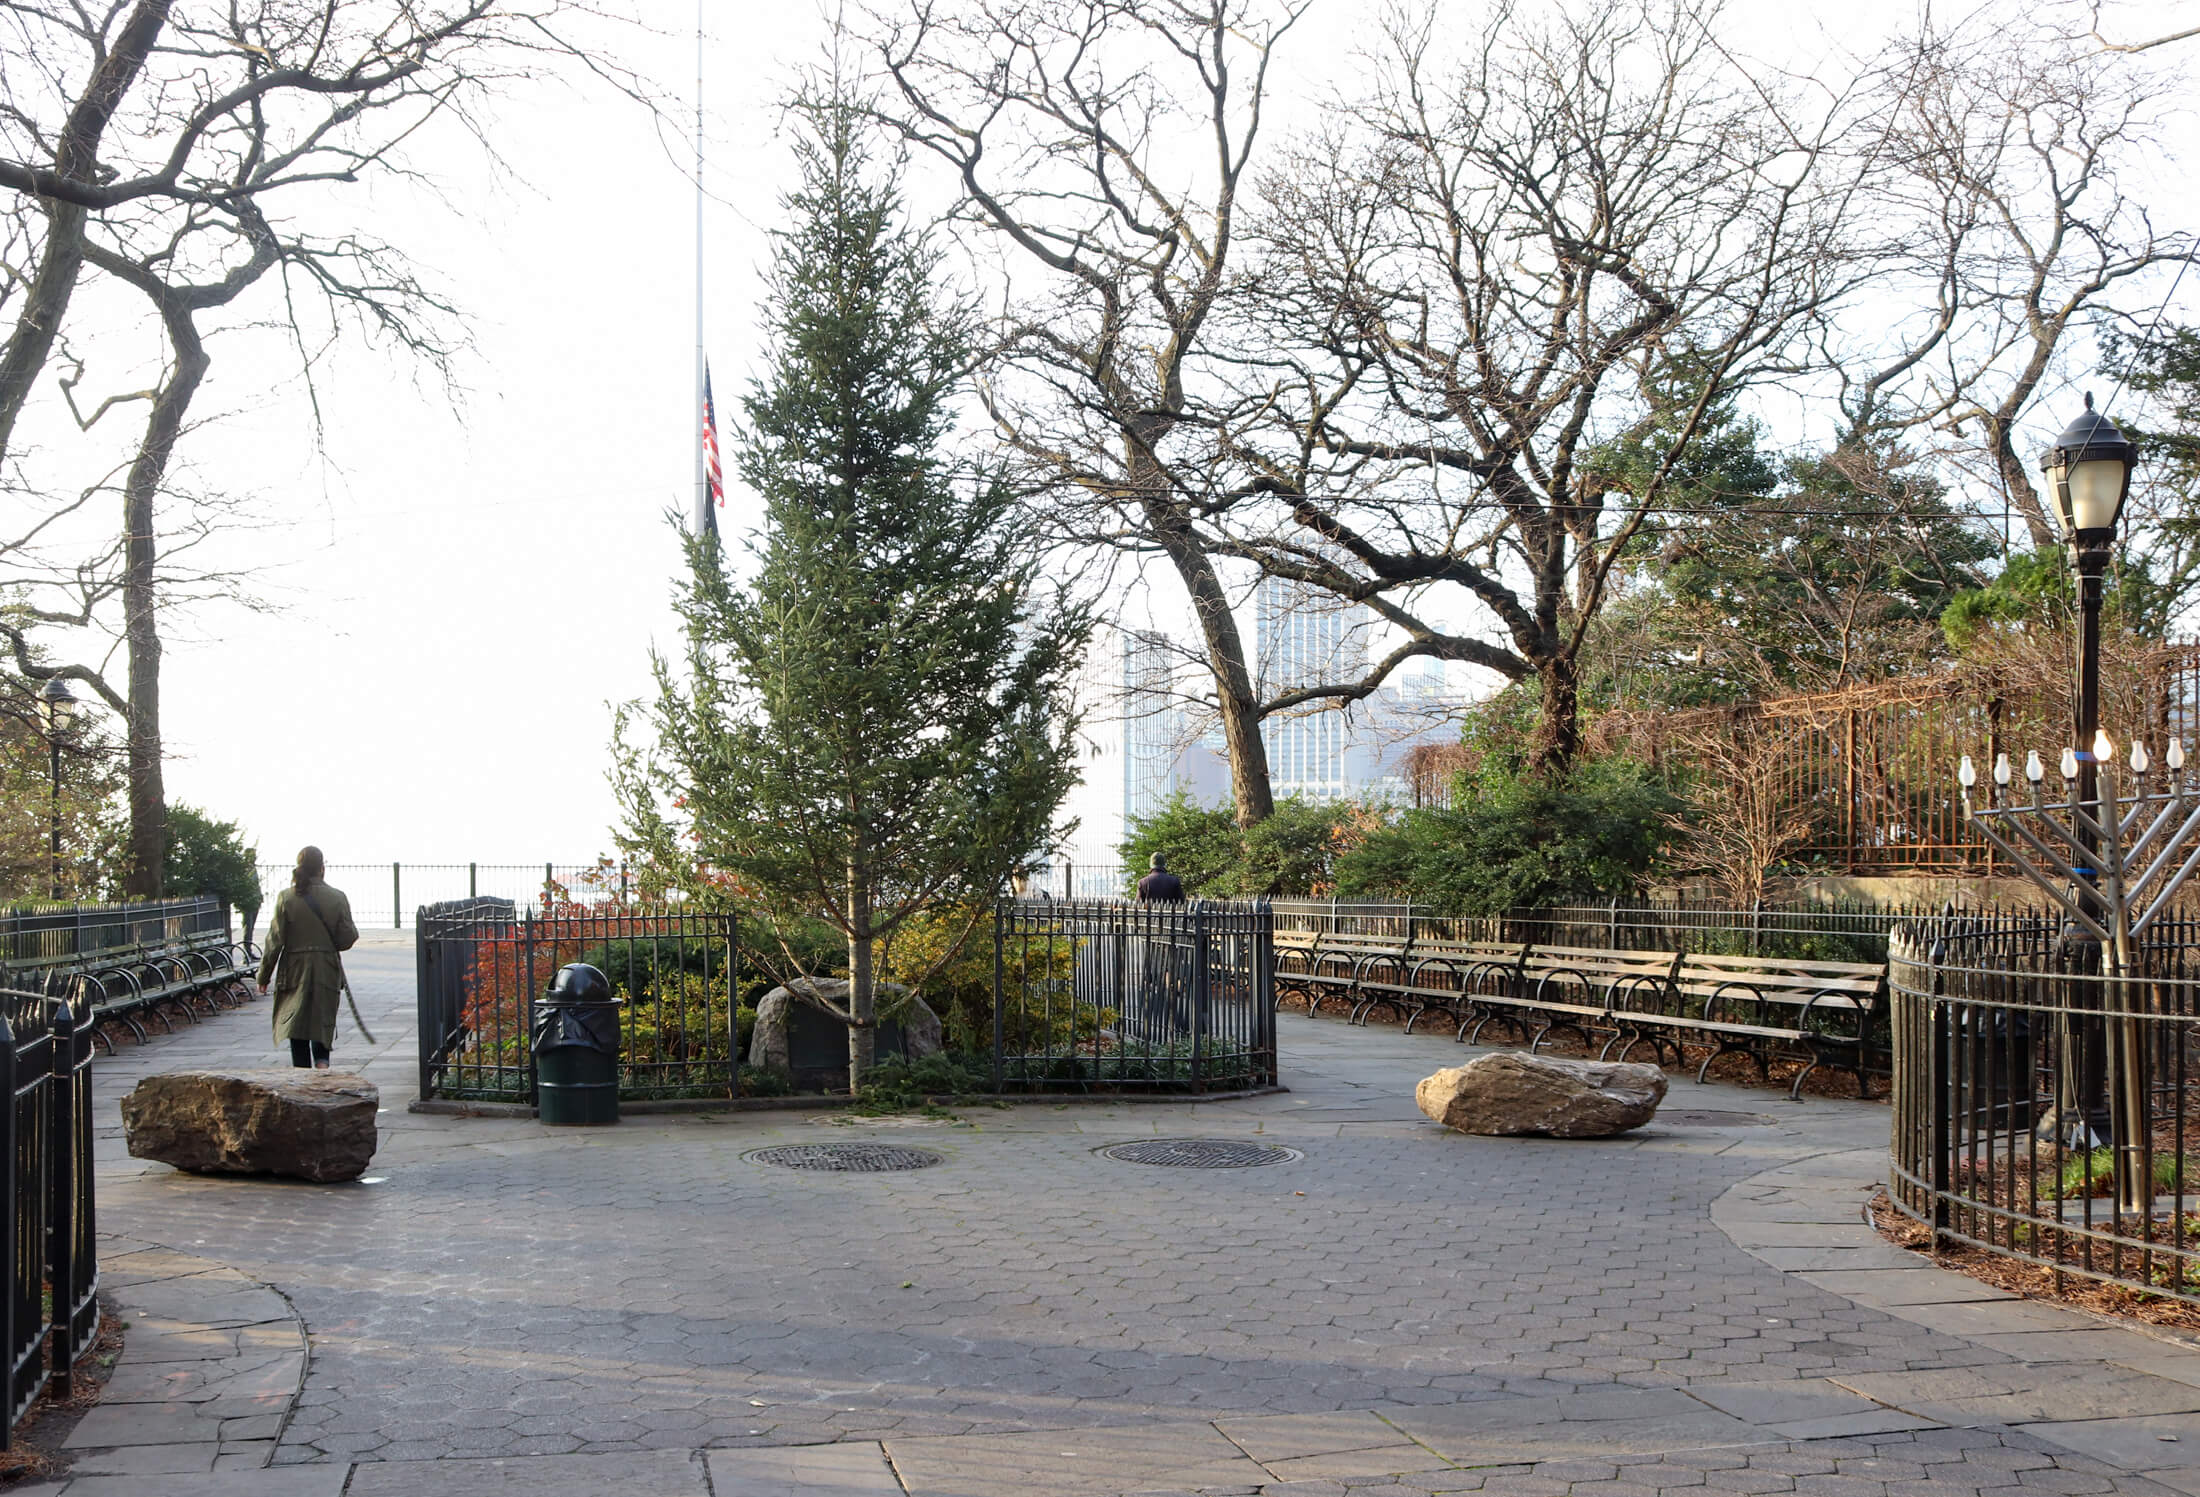
M1536 682L1538 768L1580 746L1615 566L1857 275L1846 101L1753 84L1714 20L1498 7L1454 51L1399 18L1368 97L1265 183L1265 420L1228 429L1261 476L1201 535L1368 605L1382 667Z

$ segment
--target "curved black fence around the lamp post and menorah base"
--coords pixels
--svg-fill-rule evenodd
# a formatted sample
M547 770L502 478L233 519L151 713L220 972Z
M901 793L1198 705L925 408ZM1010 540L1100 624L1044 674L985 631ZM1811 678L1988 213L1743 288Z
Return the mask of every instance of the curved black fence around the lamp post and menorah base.
M2200 1303L2200 920L2132 971L2046 916L1901 927L1892 1198L1936 1244Z

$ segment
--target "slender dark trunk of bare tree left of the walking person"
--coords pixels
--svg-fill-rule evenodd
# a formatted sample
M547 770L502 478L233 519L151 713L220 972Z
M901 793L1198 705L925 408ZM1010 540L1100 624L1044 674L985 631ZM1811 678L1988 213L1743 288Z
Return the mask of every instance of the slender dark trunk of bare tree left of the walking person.
M130 859L123 892L130 898L158 898L161 865L167 861L167 788L161 777L161 537L154 528L154 500L167 478L183 416L207 374L207 350L189 310L163 308L163 321L176 365L154 396L145 438L123 482L123 643L130 649Z

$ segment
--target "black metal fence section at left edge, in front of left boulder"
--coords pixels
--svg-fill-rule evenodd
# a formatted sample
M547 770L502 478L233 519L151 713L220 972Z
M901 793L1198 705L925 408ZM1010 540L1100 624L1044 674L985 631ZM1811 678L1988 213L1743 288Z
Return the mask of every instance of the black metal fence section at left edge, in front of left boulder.
M0 1449L48 1378L99 1334L99 1246L92 1211L92 1026L64 997L0 988L0 1162L7 1233L0 1246L0 1345L7 1409Z

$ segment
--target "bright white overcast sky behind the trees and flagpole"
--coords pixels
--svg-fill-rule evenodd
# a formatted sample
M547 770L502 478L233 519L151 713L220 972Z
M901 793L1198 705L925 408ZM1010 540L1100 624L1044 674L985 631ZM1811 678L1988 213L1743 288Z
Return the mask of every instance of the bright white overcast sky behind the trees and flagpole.
M1305 90L1366 7L1316 0L1278 86ZM691 24L686 0L651 13ZM790 176L774 97L818 55L825 22L812 0L711 13L706 328L724 416L752 370L763 227ZM1745 44L1802 53L1826 24L1859 44L1901 13L1892 0L1734 9ZM2127 13L2138 26L2200 7ZM634 62L693 88L693 37ZM323 456L301 390L277 383L279 348L216 348L202 409L238 414L187 456L207 482L257 495L271 526L233 537L227 559L268 568L279 610L172 623L169 795L238 819L266 861L304 841L330 863L609 848L607 702L638 696L649 645L675 638L680 555L662 513L686 504L693 465L693 189L642 112L601 92L506 99L502 147L513 178L449 152L444 200L352 189L466 308L462 409L407 365L345 348L319 376ZM730 539L752 524L733 504Z

